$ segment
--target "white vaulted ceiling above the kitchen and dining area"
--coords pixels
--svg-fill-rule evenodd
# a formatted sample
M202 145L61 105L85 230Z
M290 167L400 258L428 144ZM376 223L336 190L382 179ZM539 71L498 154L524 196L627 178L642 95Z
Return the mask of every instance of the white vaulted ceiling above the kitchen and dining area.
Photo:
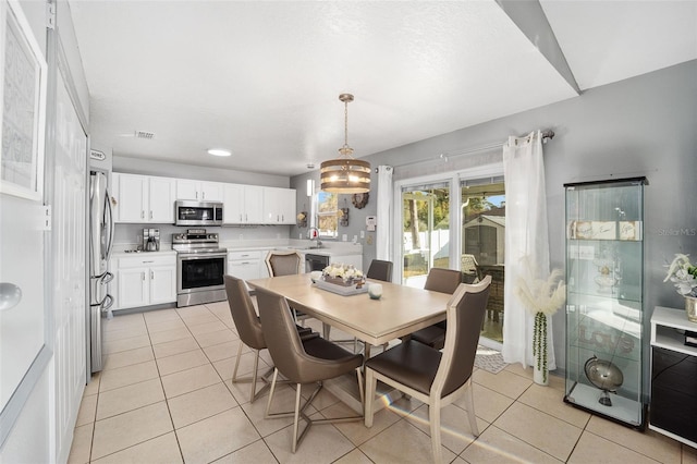
M540 3L582 90L697 59L697 0ZM577 96L493 0L70 5L117 156L294 175L338 156L341 93L357 158Z

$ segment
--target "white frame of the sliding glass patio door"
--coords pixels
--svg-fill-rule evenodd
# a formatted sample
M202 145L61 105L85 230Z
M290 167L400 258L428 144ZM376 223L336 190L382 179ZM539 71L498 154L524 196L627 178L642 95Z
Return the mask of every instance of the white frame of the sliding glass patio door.
M475 168L450 171L450 172L441 172L438 174L429 174L423 175L418 178L409 178L409 179L400 179L394 181L393 190L392 190L392 198L393 198L393 211L392 211L392 223L394 227L392 228L392 256L393 259L393 269L394 269L394 278L393 281L398 283L402 283L404 276L404 256L402 254L402 245L403 245L403 234L404 234L404 217L402 207L402 190L409 186L423 185L423 184L436 184L436 183L448 183L450 186L450 211L449 211L449 221L451 224L461 224L462 223L462 195L460 192L460 184L462 181L466 180L476 180L481 178L494 178L503 175L503 161L479 166ZM505 181L504 181L505 182ZM456 265L456 269L460 269L460 255L462 254L462 228L457 227L454 230L451 227L450 230L450 246L449 246L449 258L450 262ZM502 344L494 341L481 337L479 339L479 343L487 347L491 347L494 350L501 350Z

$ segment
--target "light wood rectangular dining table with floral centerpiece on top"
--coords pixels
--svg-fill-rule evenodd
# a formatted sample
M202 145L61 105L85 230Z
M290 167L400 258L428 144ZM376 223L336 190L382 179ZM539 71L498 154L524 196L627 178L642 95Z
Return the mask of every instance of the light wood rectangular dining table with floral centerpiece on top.
M326 290L327 284L313 283L309 273L248 280L254 289L265 289L284 296L289 305L365 343L365 356L370 356L370 346L379 346L416 330L445 319L445 309L452 295L417 289L399 283L367 279L364 285L382 285L380 298L372 300L367 292L344 295ZM325 330L325 334L328 331ZM332 391L356 411L362 411L355 378L326 382ZM378 387L378 395L390 395L391 389ZM386 402L376 401L377 407Z

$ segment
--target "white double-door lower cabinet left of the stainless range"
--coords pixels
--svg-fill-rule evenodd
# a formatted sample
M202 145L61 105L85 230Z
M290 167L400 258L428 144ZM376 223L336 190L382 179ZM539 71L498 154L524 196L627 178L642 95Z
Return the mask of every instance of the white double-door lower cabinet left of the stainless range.
M176 302L176 254L117 259L115 309Z

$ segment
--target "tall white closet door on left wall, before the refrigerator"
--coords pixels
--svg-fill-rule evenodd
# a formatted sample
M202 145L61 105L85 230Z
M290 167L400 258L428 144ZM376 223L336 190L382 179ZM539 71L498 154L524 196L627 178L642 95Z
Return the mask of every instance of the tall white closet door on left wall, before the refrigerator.
M87 375L86 168L87 135L59 72L52 235L58 456L70 452Z

